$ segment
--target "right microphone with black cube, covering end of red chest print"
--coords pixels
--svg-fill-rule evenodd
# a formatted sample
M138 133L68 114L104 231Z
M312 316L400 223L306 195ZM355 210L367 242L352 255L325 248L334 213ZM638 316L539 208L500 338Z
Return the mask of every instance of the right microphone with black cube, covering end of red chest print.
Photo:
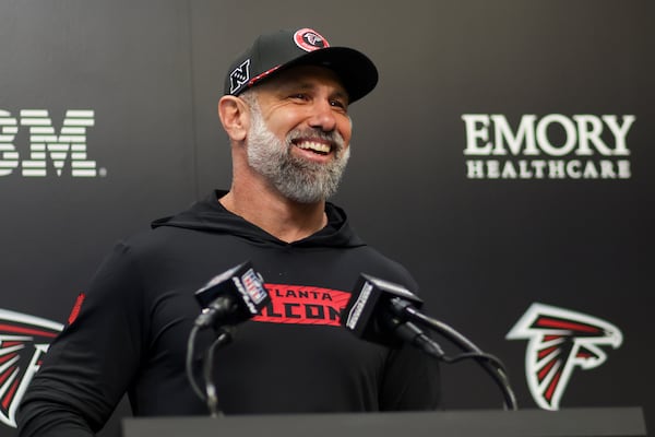
M342 324L373 343L397 347L407 342L441 357L441 347L404 316L404 308L422 305L418 296L402 285L361 273L344 309Z

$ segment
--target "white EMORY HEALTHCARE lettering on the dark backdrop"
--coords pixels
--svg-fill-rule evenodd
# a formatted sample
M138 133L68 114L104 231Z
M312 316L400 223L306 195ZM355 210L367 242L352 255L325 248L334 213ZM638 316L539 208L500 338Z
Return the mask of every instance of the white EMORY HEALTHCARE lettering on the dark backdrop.
M633 115L462 115L468 179L629 179ZM544 158L544 156L546 158Z

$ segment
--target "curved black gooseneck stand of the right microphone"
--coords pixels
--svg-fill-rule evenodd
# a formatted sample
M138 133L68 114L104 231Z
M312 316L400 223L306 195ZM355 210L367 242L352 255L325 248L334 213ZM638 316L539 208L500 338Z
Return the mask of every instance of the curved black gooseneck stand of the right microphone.
M426 351L428 354L432 355L438 359L443 359L446 363L455 363L464 358L474 358L476 363L478 363L491 376L493 381L500 388L504 399L504 409L512 411L519 410L516 395L514 394L514 391L510 386L504 365L499 358L483 352L472 341L466 339L464 335L462 335L448 324L419 312L416 308L412 307L410 304L406 300L394 297L391 299L391 304L393 312L395 312L396 316L409 318L416 323L422 324L428 329L432 329L439 332L440 334L444 335L446 339L452 341L454 344L456 344L465 353L452 358L446 357L443 354L443 352L441 352L441 354L439 355L434 353L434 351L440 351L439 345L426 335L424 335L424 338L427 338L428 340L424 339L424 343L431 342L433 344L431 344L429 349L421 347L424 349L424 351Z

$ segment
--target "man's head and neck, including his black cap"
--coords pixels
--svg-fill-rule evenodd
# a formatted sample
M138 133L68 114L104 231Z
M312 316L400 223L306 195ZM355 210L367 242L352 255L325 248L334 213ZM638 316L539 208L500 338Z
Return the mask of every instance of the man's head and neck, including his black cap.
M377 82L364 54L310 28L260 36L233 63L218 104L234 163L221 203L287 243L325 226L324 201L350 153L348 105Z

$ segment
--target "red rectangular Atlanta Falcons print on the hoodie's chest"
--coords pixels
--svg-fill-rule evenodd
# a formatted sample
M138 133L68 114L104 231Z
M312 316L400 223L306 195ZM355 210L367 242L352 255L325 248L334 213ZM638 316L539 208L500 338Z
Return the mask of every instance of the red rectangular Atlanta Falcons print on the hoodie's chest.
M350 293L305 285L264 284L271 300L254 321L341 326Z

